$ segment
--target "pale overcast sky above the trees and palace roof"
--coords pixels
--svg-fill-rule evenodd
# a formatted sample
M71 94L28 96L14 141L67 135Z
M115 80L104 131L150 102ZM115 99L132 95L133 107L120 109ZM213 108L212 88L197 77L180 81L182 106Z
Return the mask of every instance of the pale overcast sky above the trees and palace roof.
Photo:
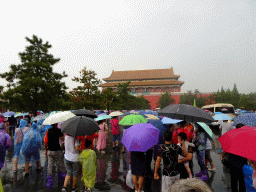
M182 92L223 85L256 92L255 1L1 1L0 72L20 63L33 34L52 44L66 85L87 66L102 79L112 70L164 69L185 81ZM6 85L4 79L0 84Z

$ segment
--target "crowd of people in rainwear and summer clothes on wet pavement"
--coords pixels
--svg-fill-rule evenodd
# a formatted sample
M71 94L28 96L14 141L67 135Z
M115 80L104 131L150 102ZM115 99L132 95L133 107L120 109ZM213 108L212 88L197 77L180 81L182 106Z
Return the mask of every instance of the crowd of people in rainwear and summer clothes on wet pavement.
M100 120L97 122L100 128L98 133L78 137L63 134L60 130L61 123L48 126L47 131L45 131L42 129L43 120L31 122L28 121L28 118L17 120L14 116L8 121L1 120L0 169L4 167L6 150L13 144L14 173L17 172L18 165L24 163L25 176L27 177L31 161L35 161L37 171L40 171L40 149L44 146L45 156L48 159L46 183L48 188L52 188L54 182L52 167L56 162L57 180L64 182L62 192L67 191L71 177L73 181L72 192L78 191L79 174L81 174L81 180L84 183L84 191L91 191L94 188L98 166L93 147L94 142L97 142L96 150L100 153L105 153L106 146L110 144L107 141L111 138L113 149L118 147L121 132L119 120L120 117L113 117L110 123L107 123L107 120ZM242 124L238 124L236 128L242 126ZM223 121L220 125L221 134L232 129L234 129L233 125L227 121ZM143 191L145 177L155 180L161 178L161 191L163 192L188 191L189 188L203 188L202 191L211 191L203 181L208 180L208 171L214 172L216 168L210 154L212 141L205 130L198 123L191 124L182 121L178 124L169 125L162 140L164 143L153 146L145 153L136 151L127 153L135 191ZM122 152L126 153L124 147ZM196 152L200 166L200 172L196 174L193 172L192 162L194 152ZM244 170L250 170L253 173L256 170L255 162L225 152L222 154L222 161L227 159L227 156L232 191L246 191L245 179L250 179L250 175L244 174ZM154 167L151 167L153 159L155 164ZM208 168L208 163L210 168ZM161 166L162 172L160 171ZM81 173L79 169L82 170ZM252 175L255 179L256 174ZM256 179L254 183L252 179L250 182L252 185L256 185Z

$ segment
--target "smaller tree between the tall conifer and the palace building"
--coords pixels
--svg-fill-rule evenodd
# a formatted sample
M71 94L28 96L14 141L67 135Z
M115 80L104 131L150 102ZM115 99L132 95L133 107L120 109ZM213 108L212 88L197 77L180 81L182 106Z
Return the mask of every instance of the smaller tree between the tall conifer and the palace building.
M95 71L87 70L84 67L80 72L80 77L74 77L72 81L82 84L74 88L71 94L72 106L75 109L97 109L100 107L100 91L98 85L100 80L96 78Z

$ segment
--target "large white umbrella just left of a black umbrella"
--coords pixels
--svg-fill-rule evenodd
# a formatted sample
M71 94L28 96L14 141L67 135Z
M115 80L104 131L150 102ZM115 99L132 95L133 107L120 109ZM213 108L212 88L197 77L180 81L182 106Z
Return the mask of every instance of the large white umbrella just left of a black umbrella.
M43 125L52 125L62 121L66 121L75 115L69 111L63 111L56 114L49 115L43 122Z

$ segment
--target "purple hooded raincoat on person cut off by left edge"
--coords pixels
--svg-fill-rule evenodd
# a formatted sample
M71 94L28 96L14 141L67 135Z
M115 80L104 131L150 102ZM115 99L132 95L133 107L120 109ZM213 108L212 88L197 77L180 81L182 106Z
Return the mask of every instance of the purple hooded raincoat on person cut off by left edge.
M0 169L4 167L6 150L12 146L11 137L5 133L4 123L0 123Z

